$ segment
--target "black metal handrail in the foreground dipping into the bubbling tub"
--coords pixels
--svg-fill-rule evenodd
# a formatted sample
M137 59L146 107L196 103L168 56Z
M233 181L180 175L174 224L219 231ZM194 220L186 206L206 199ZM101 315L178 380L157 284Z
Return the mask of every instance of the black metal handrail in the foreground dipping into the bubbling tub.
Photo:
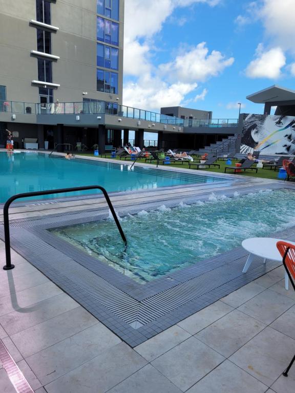
M108 195L108 192L106 189L104 189L101 186L85 186L85 187L73 187L73 188L61 188L57 190L50 190L50 191L35 191L35 192L24 192L22 194L16 194L13 195L13 197L10 197L3 208L3 219L4 219L4 238L5 238L5 255L6 255L6 265L3 267L4 270L10 270L14 268L14 265L11 264L11 254L10 254L10 232L9 232L9 214L8 214L8 209L9 206L13 201L16 199L20 198L28 198L28 197L38 197L40 195L51 195L51 194L61 194L64 192L76 192L76 191L85 191L85 190L95 190L98 189L102 191L104 198L106 198L106 201L108 203L108 206L112 212L112 215L114 217L115 223L117 225L117 228L120 232L120 235L122 237L123 242L125 243L125 246L127 245L127 239L124 235L124 232L122 230L122 227L119 223L117 214L115 212L115 209L112 205L112 202L110 200L110 197Z

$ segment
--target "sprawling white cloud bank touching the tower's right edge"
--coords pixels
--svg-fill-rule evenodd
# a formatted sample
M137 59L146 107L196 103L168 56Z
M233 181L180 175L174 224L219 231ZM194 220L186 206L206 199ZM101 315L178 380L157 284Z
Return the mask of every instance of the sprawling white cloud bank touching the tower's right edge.
M188 7L197 3L214 7L222 1L125 1L124 75L133 76L133 80L124 83L124 104L150 110L159 110L160 106L180 105L185 96L197 88L197 81L217 76L233 63L233 58L226 59L218 51L209 54L203 42L184 56L178 56L174 61L161 65L162 71L169 69L171 74L174 73L171 82L168 82L166 72L161 74L152 64L154 35L161 31L163 23L177 7ZM189 61L197 63L189 64ZM190 75L187 75L187 72ZM199 99L204 99L204 91Z

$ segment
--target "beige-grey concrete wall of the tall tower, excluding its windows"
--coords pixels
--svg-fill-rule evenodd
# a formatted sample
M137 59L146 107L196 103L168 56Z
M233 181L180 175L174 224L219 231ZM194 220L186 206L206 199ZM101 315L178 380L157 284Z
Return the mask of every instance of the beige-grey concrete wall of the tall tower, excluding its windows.
M124 1L120 1L121 19ZM83 97L122 103L123 23L119 34L119 94L96 91L96 0L63 0L52 2L52 25L59 27L51 34L54 100L82 101ZM0 0L0 85L7 86L7 100L39 102L35 0ZM107 70L110 71L110 70ZM82 92L88 92L83 96ZM117 100L116 98L119 98Z

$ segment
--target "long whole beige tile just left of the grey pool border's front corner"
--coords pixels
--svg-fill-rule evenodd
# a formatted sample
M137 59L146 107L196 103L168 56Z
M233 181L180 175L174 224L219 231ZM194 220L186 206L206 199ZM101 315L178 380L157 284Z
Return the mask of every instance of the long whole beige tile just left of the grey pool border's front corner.
M108 328L97 323L26 358L26 361L40 382L45 385L120 342L121 340Z

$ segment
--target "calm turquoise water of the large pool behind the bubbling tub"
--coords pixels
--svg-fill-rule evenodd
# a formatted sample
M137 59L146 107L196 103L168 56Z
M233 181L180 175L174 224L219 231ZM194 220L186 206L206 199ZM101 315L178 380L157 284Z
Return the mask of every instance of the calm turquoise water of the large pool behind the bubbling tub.
M48 157L46 154L36 152L18 154L0 152L0 203L6 202L9 197L17 193L83 185L100 185L111 192L224 181L218 177L143 168L136 164L133 170L130 170L130 165L79 158L66 160L64 157ZM45 195L38 199L86 193L95 193L95 191Z

